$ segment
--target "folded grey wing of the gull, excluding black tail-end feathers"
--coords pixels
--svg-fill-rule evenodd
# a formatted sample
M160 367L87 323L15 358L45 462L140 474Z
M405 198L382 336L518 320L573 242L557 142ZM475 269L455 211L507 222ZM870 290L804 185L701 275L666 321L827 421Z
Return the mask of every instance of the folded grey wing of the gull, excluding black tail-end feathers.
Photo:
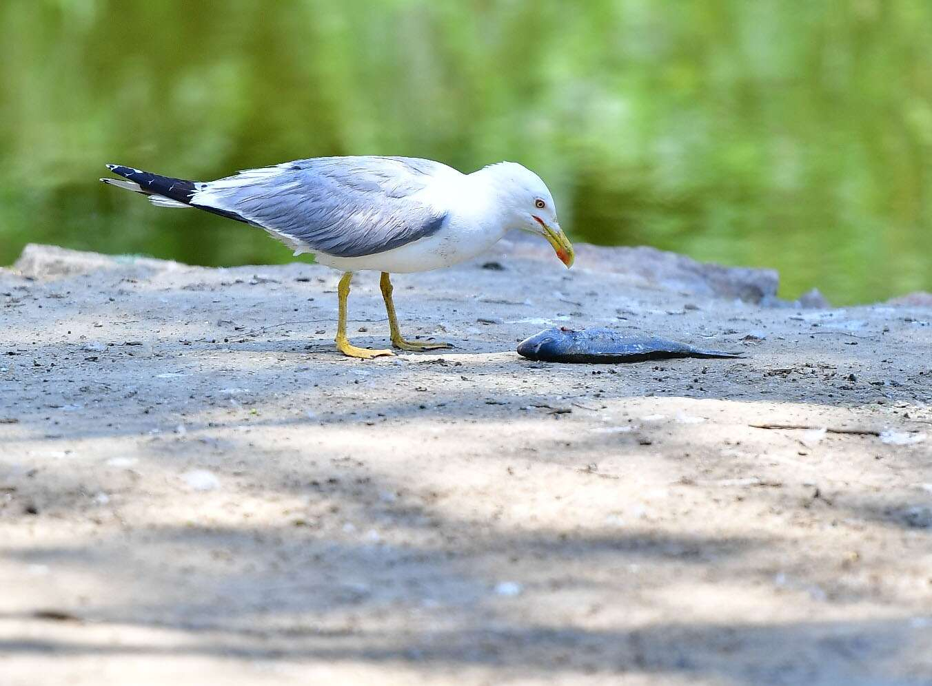
M316 157L199 184L191 204L237 215L296 249L363 257L439 231L446 211L418 193L452 171L411 157Z

